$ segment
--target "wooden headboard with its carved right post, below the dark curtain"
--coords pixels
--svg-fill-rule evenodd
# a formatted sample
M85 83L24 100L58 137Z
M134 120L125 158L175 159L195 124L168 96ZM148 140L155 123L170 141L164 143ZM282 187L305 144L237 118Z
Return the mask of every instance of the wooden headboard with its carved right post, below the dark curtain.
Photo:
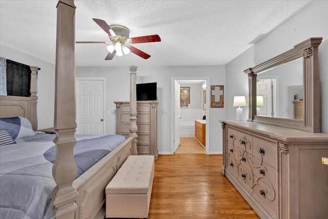
M37 71L38 67L31 67L31 96L2 96L0 95L0 118L23 116L32 123L33 130L37 130Z

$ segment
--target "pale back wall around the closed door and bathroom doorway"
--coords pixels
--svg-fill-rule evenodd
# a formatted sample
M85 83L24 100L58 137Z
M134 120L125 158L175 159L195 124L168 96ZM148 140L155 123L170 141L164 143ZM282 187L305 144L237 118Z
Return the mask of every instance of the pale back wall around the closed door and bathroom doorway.
M158 114L157 145L158 152L171 154L171 77L210 77L212 85L225 85L224 66L159 66L138 67L137 83L157 82ZM200 73L201 72L201 73ZM115 133L114 101L129 101L130 71L129 67L77 67L77 77L106 78L106 132ZM188 106L189 107L189 106ZM163 112L165 112L163 114ZM210 153L222 152L222 129L219 120L224 120L226 108L210 109Z

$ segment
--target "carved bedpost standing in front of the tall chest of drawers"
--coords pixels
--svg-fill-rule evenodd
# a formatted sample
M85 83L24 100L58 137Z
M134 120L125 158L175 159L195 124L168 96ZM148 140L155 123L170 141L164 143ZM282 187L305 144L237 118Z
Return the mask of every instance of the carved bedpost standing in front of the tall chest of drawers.
M137 151L137 92L136 77L138 66L130 66L130 137L134 137L132 141L132 155L138 155Z

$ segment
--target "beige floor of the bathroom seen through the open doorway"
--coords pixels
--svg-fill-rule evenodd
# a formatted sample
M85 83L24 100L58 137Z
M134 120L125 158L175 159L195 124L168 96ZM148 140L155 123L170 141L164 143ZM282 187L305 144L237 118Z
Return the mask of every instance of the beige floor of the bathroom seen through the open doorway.
M175 153L205 153L205 148L195 137L180 137L180 146Z

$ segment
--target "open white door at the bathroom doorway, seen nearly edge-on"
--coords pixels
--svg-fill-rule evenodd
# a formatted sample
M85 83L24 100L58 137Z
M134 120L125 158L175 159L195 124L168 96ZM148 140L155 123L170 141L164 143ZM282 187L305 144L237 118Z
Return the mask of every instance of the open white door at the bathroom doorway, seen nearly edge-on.
M180 84L174 81L174 152L180 145Z

